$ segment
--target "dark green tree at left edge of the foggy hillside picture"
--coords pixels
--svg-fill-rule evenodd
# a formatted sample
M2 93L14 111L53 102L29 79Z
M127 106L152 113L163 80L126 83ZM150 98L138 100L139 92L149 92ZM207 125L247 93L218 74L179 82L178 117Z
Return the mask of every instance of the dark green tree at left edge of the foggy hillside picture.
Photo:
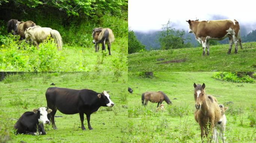
M145 46L138 41L134 31L128 29L128 54L144 51Z

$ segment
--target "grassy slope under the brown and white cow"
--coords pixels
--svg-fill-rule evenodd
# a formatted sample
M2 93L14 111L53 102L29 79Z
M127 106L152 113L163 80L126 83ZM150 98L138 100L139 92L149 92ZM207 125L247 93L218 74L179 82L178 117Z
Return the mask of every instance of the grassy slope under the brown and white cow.
M128 55L129 71L255 71L256 42L238 46L238 54L231 54L229 45L210 46L210 55L202 56L202 48L182 48L174 50L144 51ZM157 61L163 58L163 61ZM179 63L162 63L173 60L185 60Z

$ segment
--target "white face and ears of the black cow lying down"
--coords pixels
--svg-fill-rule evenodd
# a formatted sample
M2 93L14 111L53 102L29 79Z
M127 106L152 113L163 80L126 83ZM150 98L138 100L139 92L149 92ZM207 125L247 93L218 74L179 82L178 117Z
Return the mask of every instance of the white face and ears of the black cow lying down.
M46 109L45 107L40 107L39 109L33 109L33 112L39 114L39 123L49 124L50 121L47 118L47 114L52 112L51 109Z

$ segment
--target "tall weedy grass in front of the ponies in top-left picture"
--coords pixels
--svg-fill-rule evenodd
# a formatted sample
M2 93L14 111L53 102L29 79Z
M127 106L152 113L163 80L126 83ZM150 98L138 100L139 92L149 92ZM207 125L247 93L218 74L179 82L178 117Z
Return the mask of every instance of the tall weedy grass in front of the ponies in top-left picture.
M12 38L10 38L12 40ZM116 38L111 54L95 53L94 44L70 46L64 43L58 51L54 43L41 43L36 47L18 41L0 45L0 71L127 71L127 38ZM101 44L100 44L101 46ZM18 49L18 47L25 47Z

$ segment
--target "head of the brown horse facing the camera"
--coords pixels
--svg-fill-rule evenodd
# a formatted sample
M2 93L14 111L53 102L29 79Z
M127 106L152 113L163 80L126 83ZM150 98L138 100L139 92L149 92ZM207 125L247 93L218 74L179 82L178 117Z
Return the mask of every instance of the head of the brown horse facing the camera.
M205 102L205 93L204 93L204 88L205 88L205 84L203 83L202 85L198 84L196 85L194 83L194 98L195 98L195 108L196 109L200 109L201 105Z

